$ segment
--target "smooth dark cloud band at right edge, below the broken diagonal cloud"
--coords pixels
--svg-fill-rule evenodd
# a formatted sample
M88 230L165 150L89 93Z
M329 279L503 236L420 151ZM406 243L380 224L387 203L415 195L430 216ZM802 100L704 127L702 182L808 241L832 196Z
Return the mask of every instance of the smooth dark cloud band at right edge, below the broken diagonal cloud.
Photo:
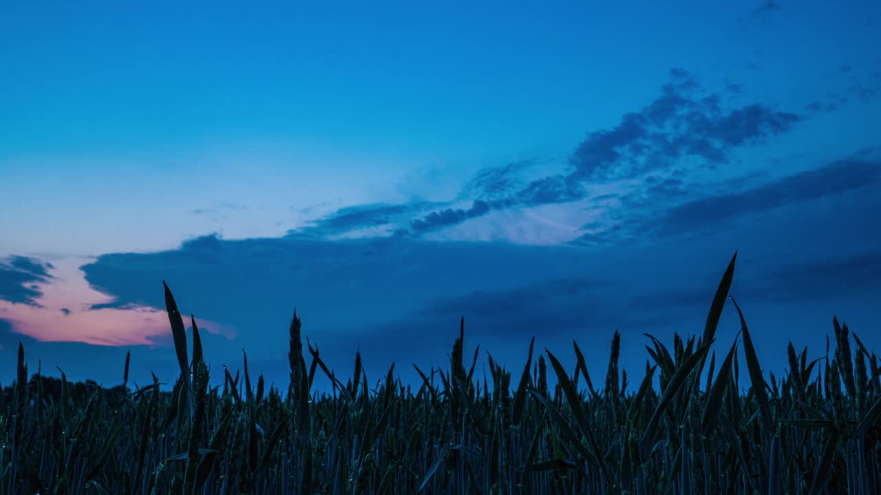
M843 215L833 208L854 210L856 217L843 215L837 222L856 225L864 211L881 206L873 199L877 193L872 191L881 189L881 161L873 151L772 180L765 175L722 181L711 188L718 192L675 176L649 176L641 188L620 196L618 207L604 208L600 218L583 225L584 234L572 243L612 246L713 236L738 223L758 225L765 218L780 218L784 209L813 217ZM840 199L828 203L832 198Z

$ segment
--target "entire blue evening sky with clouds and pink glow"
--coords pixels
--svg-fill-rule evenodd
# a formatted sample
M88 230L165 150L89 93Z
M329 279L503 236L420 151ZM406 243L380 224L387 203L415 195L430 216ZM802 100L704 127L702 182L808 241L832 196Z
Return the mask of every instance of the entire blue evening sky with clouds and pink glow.
M464 317L478 377L535 336L602 381L618 330L638 382L735 252L766 372L833 315L881 350L878 47L870 1L5 3L0 384L19 342L173 382L163 280L216 383L284 390L294 309L337 375L415 384Z

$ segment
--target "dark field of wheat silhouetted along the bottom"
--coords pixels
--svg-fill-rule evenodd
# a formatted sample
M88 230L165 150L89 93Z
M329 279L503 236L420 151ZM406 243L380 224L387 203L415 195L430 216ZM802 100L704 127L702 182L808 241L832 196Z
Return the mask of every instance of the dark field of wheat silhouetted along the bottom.
M360 355L344 378L317 346L304 349L296 313L287 390L266 389L262 375L252 380L247 355L241 375L225 367L224 385L209 388L196 321L188 349L166 286L181 372L164 377L174 379L171 392L160 391L155 375L129 388L128 357L114 388L70 383L62 370L60 380L29 380L19 344L18 378L0 394L0 492L881 492L877 356L833 319L825 357L809 360L790 343L788 373L766 376L729 296L736 259L707 297L701 333L674 336L671 346L646 337L638 388L618 369L617 332L604 381L591 380L578 344L566 369L535 350L533 338L522 368L508 371L490 357L491 381L480 382L478 351L470 359L463 349L463 322L448 369L414 365L422 377L414 389L392 366L369 388ZM720 342L715 329L728 301L741 329L734 342ZM331 392L312 391L318 373Z

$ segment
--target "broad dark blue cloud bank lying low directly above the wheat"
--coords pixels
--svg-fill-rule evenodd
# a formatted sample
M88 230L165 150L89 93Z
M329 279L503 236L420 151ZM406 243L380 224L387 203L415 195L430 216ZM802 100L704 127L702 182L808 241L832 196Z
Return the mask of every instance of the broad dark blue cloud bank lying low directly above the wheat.
M658 176L650 182L665 180ZM825 218L763 218L698 239L591 248L407 237L207 236L165 252L102 255L82 269L93 287L116 298L118 307L163 308L165 279L182 311L233 327L238 332L234 340L211 336L210 351L206 344L215 377L221 364L241 368L244 347L252 369L266 373L270 381L286 383L286 328L294 308L303 318L304 336L319 344L322 358L337 373L351 373L354 352L360 350L372 379L394 361L403 379L415 380L411 363L424 368L447 364L462 315L470 349L481 344L507 366L522 364L529 337L535 335L538 344L564 359L571 358L571 342L577 339L589 366L599 366L592 372L603 373L605 344L616 328L625 335L622 366L628 370L640 370L644 363L642 332L664 339L674 330L699 333L734 249L740 255L732 293L751 322L810 328L803 344L811 346L822 344L833 313L847 317L860 331L877 314L848 306L847 298L853 296L840 289L852 284L867 297L881 290L878 256L859 257L877 252L869 248L877 247L877 239L867 237L869 220L841 221L842 216L853 216L852 211L837 205L824 211ZM803 248L792 252L790 244ZM824 287L824 280L832 283ZM806 311L809 296L812 302ZM726 313L720 338L733 339L737 327L736 315ZM774 363L781 344L775 338L774 332L756 337L763 363ZM602 348L590 345L596 339ZM881 345L872 336L866 339L872 347ZM7 340L17 343L18 336ZM138 347L137 360L133 348L133 366L152 369L163 380L174 376L174 351L166 341L156 339L160 345L155 349ZM117 380L121 373L122 349L31 345L39 350L36 355L43 358L44 367L61 362L65 372L71 367L105 382ZM90 372L88 366L73 362L71 350L107 362ZM3 373L8 377L14 370Z

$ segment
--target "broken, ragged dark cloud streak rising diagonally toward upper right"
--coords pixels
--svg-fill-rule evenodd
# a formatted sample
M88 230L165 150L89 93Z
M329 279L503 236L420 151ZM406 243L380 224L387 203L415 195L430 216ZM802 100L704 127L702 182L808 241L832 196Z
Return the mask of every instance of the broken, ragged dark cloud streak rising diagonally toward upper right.
M615 127L591 132L577 146L563 174L527 179L524 174L543 162L525 159L479 171L457 195L459 201L470 199L470 208L365 204L336 211L292 234L326 237L391 225L398 236L419 236L491 211L576 202L589 196L586 183L666 172L685 157L700 158L707 166L729 163L732 151L787 132L802 118L765 103L725 108L719 93L701 92L692 74L672 69L655 100L621 117ZM679 185L667 182L653 187L656 193L672 194Z

